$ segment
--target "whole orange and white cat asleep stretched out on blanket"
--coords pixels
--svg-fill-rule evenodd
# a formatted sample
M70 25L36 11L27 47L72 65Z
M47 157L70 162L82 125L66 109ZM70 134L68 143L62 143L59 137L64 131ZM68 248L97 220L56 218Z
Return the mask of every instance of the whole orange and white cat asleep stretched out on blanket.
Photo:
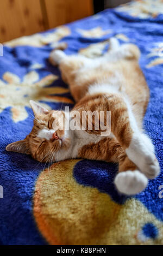
M85 130L65 129L71 121L66 111L47 110L31 100L35 116L32 132L6 150L31 154L40 162L86 158L118 163L114 180L118 191L126 195L140 193L148 178L159 175L160 167L152 141L142 128L149 89L139 58L136 45L120 45L115 38L110 39L109 51L95 59L53 50L49 61L59 66L62 79L70 87L76 101L72 111L81 116L82 111L111 111L111 133L103 136L95 129L95 120L91 130L87 129L88 122Z

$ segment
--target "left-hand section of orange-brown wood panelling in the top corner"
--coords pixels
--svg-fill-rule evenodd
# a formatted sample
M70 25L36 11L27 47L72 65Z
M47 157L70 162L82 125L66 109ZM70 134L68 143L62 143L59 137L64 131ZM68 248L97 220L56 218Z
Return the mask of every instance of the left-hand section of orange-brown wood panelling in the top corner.
M0 42L43 31L40 0L0 0Z

